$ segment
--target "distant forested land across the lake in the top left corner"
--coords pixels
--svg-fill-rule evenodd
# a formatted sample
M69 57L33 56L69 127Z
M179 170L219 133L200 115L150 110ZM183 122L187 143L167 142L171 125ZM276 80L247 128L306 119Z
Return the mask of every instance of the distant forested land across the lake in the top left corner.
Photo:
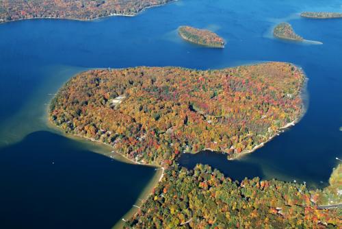
M172 0L1 0L0 23L22 19L92 20L104 16L133 16L145 8Z

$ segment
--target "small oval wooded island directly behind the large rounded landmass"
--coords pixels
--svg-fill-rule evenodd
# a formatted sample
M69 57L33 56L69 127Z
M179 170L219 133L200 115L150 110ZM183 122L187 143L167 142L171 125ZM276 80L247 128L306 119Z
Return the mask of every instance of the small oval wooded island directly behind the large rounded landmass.
M208 29L197 29L190 26L181 26L178 29L179 36L184 40L207 47L224 47L224 39Z

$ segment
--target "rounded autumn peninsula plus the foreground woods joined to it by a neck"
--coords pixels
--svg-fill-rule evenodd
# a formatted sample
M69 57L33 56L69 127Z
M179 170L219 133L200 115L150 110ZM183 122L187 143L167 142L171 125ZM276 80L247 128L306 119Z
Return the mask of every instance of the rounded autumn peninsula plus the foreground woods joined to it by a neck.
M60 89L49 117L67 133L165 168L124 228L338 228L337 209L317 208L334 189L309 191L304 184L259 178L237 182L206 165L187 170L176 163L182 152L211 148L236 157L267 141L302 115L304 79L282 62L209 71L91 70Z

